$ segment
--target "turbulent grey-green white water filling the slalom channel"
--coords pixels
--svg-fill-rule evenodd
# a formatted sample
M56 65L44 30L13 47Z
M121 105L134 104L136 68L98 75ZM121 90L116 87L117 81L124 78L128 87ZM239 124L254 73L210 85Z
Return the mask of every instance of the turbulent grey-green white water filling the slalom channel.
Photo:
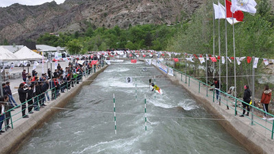
M212 117L159 70L149 68L140 79L136 66L145 64L125 63L109 66L85 86L66 106L73 110L59 112L34 131L18 153L247 153L216 120L203 120ZM154 75L163 95L149 90ZM127 84L126 77L134 81Z

